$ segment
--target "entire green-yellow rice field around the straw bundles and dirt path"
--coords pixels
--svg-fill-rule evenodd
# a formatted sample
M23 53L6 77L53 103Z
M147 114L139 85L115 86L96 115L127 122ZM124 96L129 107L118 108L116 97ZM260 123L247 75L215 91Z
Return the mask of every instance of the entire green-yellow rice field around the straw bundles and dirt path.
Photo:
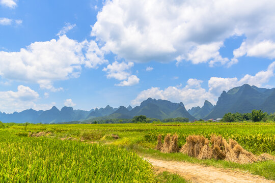
M0 177L4 182L156 182L151 165L136 153L198 163L199 160L184 158L180 153L156 152L153 148L159 134L163 137L177 134L180 147L188 135L207 138L212 134L222 135L236 140L255 155L275 155L274 123L31 124L27 127L10 124L0 129ZM269 179L275 176L273 161L249 166L214 160L200 162L240 168Z

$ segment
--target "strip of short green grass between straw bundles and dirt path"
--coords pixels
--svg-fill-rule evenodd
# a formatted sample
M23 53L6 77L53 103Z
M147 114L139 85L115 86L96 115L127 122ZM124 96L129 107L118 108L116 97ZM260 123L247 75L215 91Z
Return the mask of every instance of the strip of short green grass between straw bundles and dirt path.
M167 161L184 161L189 163L198 163L206 166L214 166L217 168L226 169L239 169L243 172L249 171L254 175L264 176L266 179L275 180L275 162L274 161L264 161L256 162L252 164L239 164L223 160L199 160L197 158L189 157L181 153L160 153L160 151L152 148L144 148L137 145L132 145L127 147L134 151L135 153L154 159L167 160Z

